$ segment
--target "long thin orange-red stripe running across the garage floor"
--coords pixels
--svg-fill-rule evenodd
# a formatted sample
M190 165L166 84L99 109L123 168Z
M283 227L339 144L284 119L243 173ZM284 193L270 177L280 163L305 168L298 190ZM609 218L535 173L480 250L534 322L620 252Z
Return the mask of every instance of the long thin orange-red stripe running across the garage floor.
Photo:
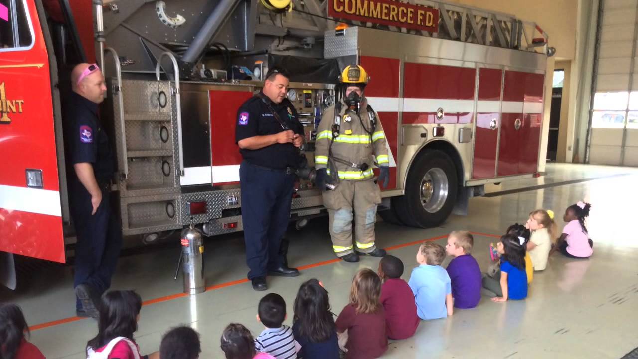
M470 233L471 234L475 234L477 236L485 236L485 237L493 237L493 238L500 238L501 237L501 236L496 236L496 234L487 234L487 233L479 233L479 232L470 232ZM417 244L421 244L421 243L424 243L424 242L442 240L443 238L447 238L447 234L445 234L443 236L427 238L426 240L412 241L412 242L403 243L403 244L399 244L399 245L393 245L393 246L390 246L390 247L386 247L385 250L395 250L395 249L398 249L398 248L410 247L412 245L417 245ZM307 269L310 269L310 268L316 268L316 267L320 267L320 266L326 266L326 265L332 264L332 263L337 263L339 261L341 261L341 259L339 259L339 258L329 259L328 261L323 261L323 262L318 262L318 263L311 263L311 264L306 264L304 266L299 266L299 267L297 267L297 269L299 269L299 270L307 270ZM246 282L248 282L248 279L231 280L230 282L225 282L225 283L221 283L221 284L216 284L214 286L206 287L206 290L207 291L214 291L216 289L236 286L237 284L242 284L242 283L246 283ZM188 294L186 294L186 293L170 294L170 295L167 295L167 296L161 296L159 298L149 299L149 300L147 300L145 302L142 302L142 305L151 305L151 304L155 304L155 303L167 302L169 300L174 300L174 299L177 299L177 298L183 298L185 296L188 296ZM43 328L49 328L51 326L61 325L61 324L64 324L64 323L71 323L73 321L78 321L80 319L86 319L86 318L84 318L84 317L68 317L68 318L64 318L64 319L58 319L56 321L48 321L46 323L41 323L41 324L37 324L37 325L34 325L34 326L30 326L29 330L33 331L33 330L38 330L38 329L43 329Z

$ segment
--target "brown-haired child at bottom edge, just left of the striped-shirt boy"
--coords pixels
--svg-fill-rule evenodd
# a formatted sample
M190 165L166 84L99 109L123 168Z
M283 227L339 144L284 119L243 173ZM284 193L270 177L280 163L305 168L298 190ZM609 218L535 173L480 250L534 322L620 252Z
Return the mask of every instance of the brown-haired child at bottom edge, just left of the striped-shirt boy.
M230 323L221 333L219 347L226 359L275 359L268 353L255 351L255 339L248 328L239 323Z

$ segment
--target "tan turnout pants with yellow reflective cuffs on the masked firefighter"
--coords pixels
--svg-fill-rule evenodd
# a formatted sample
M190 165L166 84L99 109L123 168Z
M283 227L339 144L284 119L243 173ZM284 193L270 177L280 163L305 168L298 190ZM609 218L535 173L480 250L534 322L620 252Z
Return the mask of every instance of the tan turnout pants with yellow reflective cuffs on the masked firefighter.
M323 205L330 216L332 249L337 257L354 250L373 252L375 247L376 207L381 203L381 190L374 178L366 181L342 180L334 190L323 192ZM355 243L352 243L352 221ZM356 247L355 247L356 246Z

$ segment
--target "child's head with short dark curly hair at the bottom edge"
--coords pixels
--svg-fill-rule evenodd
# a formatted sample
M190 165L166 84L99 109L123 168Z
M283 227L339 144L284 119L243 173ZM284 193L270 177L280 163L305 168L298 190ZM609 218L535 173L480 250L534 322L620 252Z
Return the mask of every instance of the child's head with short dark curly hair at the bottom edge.
M197 359L202 352L199 333L189 326L177 326L164 335L159 344L161 359Z

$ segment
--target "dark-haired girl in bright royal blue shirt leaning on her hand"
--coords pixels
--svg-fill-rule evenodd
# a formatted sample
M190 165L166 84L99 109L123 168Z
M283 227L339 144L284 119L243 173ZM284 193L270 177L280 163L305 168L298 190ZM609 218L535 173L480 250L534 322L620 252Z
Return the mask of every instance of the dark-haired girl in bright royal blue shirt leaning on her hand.
M483 287L494 293L494 302L524 299L527 296L525 272L525 240L516 234L505 234L496 245L501 256L501 268L495 278L483 277Z

